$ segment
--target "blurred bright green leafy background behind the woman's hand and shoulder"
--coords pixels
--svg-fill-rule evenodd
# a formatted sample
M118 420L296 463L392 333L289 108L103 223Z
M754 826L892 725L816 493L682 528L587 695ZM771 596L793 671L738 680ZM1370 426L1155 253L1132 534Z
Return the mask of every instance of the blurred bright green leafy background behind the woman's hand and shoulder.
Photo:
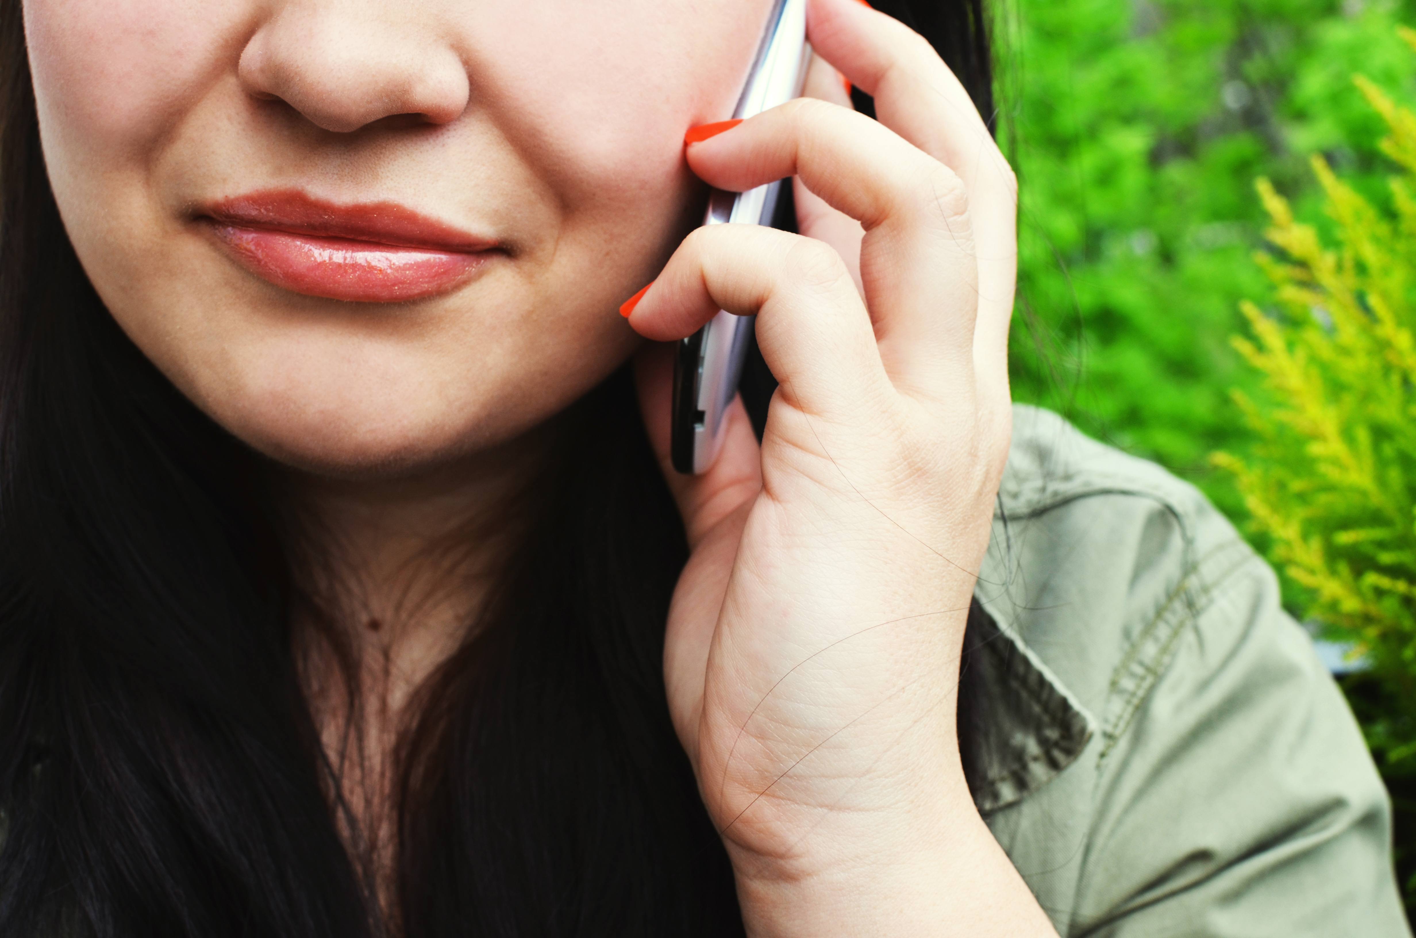
M1385 126L1362 72L1410 102L1416 1L1007 0L1000 139L1021 181L1014 397L1197 483L1236 521L1215 449L1245 449L1229 337L1269 285L1267 176L1323 224L1307 157L1379 203Z

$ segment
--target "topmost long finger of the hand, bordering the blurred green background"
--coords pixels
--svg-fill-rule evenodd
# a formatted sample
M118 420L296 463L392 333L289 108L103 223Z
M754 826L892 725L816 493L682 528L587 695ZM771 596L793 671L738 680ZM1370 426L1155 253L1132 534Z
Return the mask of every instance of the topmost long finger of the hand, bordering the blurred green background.
M811 0L816 51L875 98L875 116L963 180L980 264L976 356L1007 391L1017 276L1017 179L969 92L913 30L854 0Z

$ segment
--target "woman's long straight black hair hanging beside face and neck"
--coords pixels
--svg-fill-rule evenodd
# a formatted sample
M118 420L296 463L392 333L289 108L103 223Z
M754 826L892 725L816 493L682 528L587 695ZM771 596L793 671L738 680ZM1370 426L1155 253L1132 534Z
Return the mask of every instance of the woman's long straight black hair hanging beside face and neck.
M877 6L990 116L980 1ZM687 548L624 370L562 421L573 470L554 460L491 612L421 696L388 928L337 833L261 459L89 285L20 0L0 0L0 934L741 934L668 720ZM770 384L745 392L760 412Z

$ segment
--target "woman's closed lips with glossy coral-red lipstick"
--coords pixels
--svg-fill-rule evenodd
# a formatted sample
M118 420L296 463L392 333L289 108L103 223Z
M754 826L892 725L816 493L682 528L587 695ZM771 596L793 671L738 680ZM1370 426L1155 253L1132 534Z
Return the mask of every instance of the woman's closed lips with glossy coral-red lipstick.
M201 210L232 259L296 293L394 303L466 283L498 248L398 203L336 204L299 190Z

